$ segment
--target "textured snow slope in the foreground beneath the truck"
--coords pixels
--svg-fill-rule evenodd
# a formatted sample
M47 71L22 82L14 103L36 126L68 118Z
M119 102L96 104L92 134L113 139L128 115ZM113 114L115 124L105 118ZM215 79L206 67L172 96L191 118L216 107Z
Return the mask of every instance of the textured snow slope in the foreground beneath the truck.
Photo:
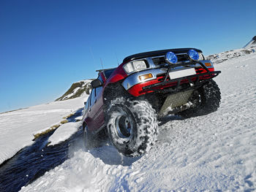
M78 146L64 164L21 191L254 191L256 54L216 69L222 71L215 78L222 92L217 112L165 118L157 144L141 158L108 145L90 152Z

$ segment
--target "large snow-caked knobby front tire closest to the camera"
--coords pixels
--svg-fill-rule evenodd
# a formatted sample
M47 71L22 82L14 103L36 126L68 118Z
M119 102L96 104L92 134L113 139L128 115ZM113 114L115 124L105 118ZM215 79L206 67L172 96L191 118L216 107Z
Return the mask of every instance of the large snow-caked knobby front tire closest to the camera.
M117 98L105 115L110 142L120 153L138 156L157 140L157 115L147 101Z

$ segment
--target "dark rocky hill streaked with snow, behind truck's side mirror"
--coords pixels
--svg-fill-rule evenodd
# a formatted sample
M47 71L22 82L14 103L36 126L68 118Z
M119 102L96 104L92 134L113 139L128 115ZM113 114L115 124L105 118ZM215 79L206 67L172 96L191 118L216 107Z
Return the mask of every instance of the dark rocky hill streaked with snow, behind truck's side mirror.
M81 80L74 82L69 90L64 93L63 96L56 99L56 101L64 101L67 99L74 99L80 96L86 96L90 94L91 80Z

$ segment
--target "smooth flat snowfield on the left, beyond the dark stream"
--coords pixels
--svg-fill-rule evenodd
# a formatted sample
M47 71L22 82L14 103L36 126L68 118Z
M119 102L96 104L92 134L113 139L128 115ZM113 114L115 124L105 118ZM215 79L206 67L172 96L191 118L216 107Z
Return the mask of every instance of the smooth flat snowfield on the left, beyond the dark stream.
M88 96L87 96L88 97ZM0 114L0 164L33 143L34 134L59 124L64 117L83 107L87 97L41 104Z

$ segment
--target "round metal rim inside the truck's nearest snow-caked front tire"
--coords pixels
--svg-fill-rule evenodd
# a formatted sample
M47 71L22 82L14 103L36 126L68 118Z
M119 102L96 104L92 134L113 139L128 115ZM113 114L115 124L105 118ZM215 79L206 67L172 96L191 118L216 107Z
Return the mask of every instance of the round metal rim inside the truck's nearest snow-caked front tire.
M123 142L129 142L132 138L132 121L127 114L120 114L115 119L115 134Z

